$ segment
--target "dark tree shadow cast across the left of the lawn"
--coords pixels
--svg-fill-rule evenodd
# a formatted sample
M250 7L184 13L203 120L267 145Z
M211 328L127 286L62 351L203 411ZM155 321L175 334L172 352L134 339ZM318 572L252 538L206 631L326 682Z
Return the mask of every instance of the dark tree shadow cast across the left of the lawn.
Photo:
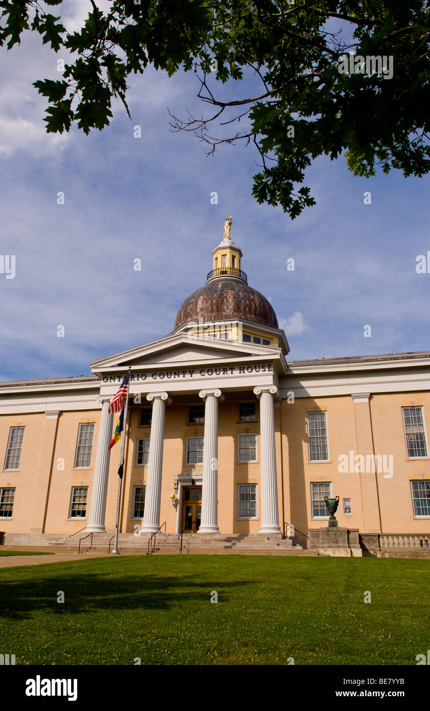
M148 609L168 610L188 604L208 602L210 592L222 594L228 602L228 591L238 586L252 585L254 581L238 579L232 582L195 580L195 576L158 577L138 574L88 572L82 574L52 575L42 579L4 582L0 585L0 617L28 619L35 611L51 614L81 614L97 610ZM65 604L58 603L63 591Z

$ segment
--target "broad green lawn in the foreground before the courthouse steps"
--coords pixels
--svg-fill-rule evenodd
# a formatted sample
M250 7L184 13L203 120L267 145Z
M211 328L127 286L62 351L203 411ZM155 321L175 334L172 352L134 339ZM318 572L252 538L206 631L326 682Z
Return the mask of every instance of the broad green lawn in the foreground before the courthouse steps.
M0 651L16 664L416 665L429 648L429 583L430 561L375 558L163 555L14 567L0 570Z

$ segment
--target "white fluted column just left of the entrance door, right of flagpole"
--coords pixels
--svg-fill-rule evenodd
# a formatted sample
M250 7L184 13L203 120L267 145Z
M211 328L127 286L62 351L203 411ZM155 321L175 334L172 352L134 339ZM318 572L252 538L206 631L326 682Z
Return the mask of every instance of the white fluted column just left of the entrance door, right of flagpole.
M167 392L150 392L146 400L152 405L151 437L149 439L148 474L146 475L144 523L141 530L154 533L160 525L161 474L163 471L163 436Z

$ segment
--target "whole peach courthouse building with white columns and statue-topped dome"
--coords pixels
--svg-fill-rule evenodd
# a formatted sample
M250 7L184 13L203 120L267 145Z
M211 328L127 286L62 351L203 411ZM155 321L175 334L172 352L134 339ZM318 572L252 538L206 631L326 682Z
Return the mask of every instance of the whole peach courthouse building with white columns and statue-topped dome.
M166 521L171 534L276 538L289 523L305 541L327 525L325 496L364 537L429 533L430 353L287 360L229 220L212 254L165 338L95 360L93 375L1 383L6 542L113 533L108 409L129 366L121 533Z

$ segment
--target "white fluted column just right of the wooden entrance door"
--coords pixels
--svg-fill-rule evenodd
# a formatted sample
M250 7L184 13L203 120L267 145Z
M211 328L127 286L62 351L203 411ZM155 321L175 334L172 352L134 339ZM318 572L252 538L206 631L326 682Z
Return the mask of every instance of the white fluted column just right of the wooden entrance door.
M219 533L218 528L218 398L221 390L200 390L205 402L203 439L202 518L198 533Z

